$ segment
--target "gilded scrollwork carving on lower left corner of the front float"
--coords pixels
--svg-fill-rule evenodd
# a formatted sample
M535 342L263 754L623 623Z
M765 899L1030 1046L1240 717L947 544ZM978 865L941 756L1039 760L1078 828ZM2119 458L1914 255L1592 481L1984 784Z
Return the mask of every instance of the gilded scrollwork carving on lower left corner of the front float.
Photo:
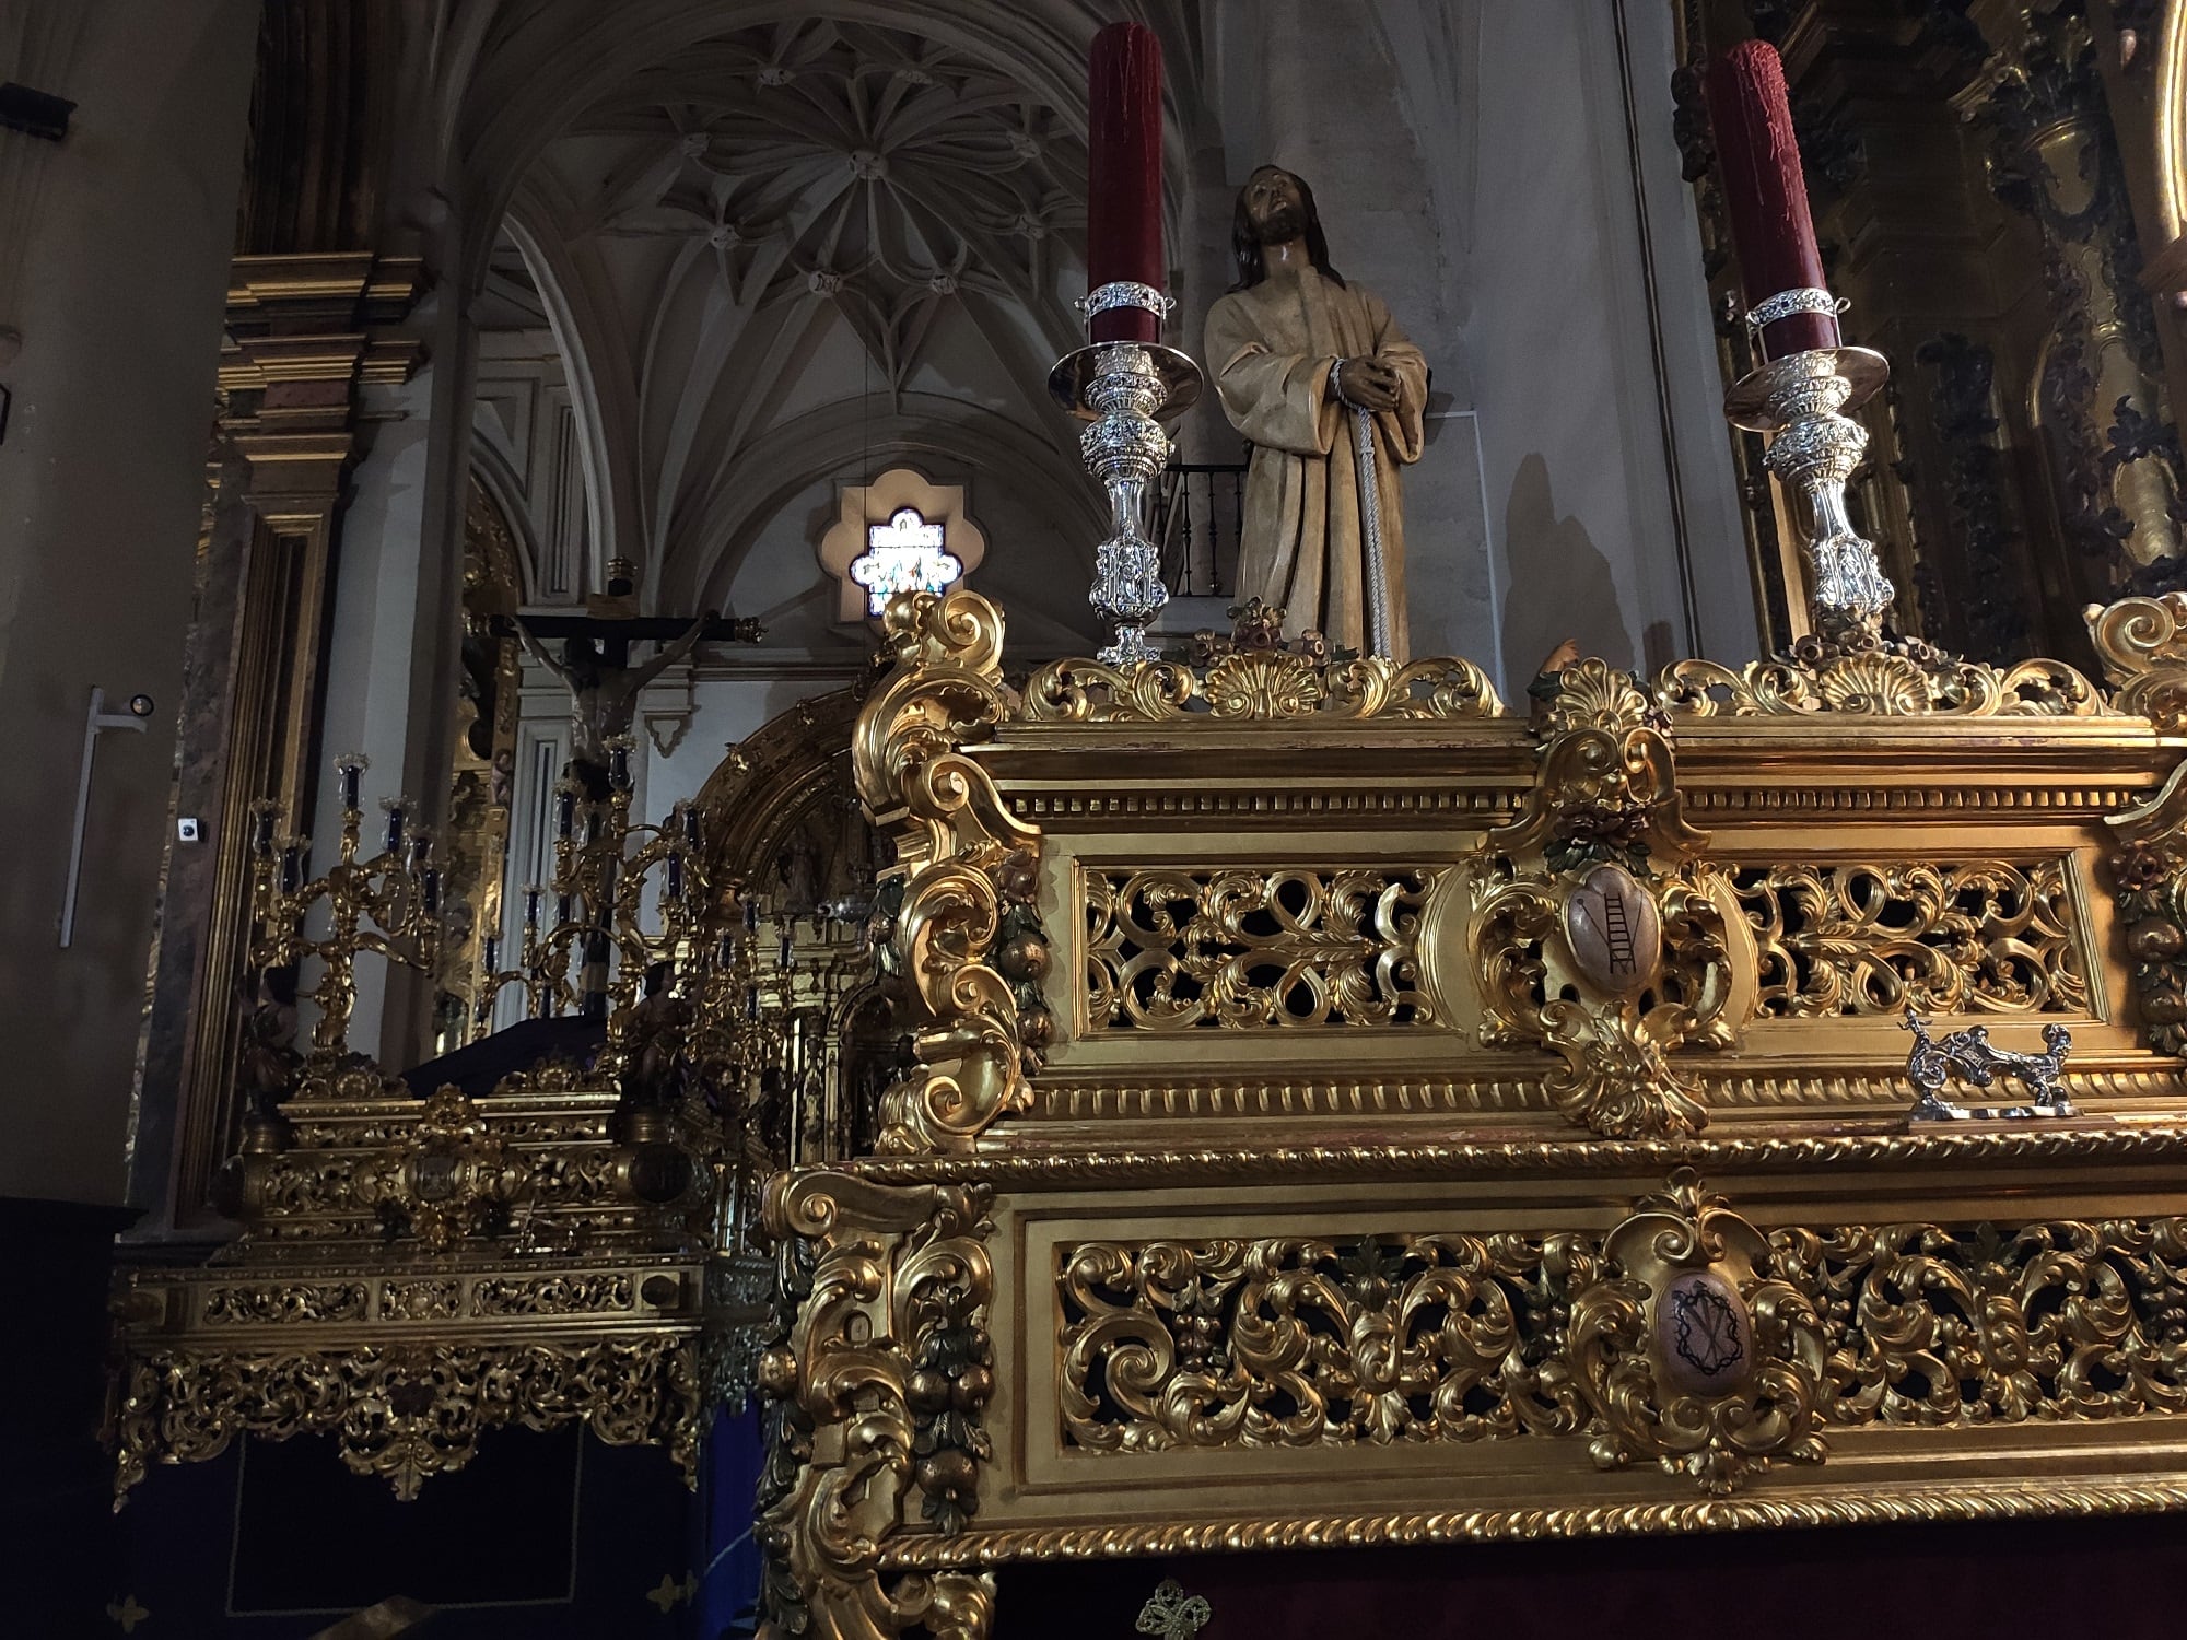
M785 1340L759 1362L772 1402L759 1520L768 1631L986 1633L986 1574L890 1581L881 1553L914 1531L956 1537L980 1507L993 1393L989 1198L986 1187L849 1174L790 1174L770 1187L768 1231L790 1242L803 1297Z

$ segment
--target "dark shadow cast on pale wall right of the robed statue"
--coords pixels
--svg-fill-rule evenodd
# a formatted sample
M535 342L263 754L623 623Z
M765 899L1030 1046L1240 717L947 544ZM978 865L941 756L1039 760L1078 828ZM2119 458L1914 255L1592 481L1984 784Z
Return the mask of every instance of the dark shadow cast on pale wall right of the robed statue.
M1559 518L1548 481L1548 461L1529 455L1511 477L1505 503L1502 652L1511 669L1511 691L1522 691L1566 639L1579 654L1601 656L1612 667L1632 669L1634 645L1618 614L1610 560L1588 538L1579 518Z

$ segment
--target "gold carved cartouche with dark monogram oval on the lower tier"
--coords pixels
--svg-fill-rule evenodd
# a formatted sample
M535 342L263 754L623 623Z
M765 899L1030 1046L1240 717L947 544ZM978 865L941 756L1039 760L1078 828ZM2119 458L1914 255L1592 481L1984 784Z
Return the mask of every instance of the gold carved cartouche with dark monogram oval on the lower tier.
M1599 1465L1656 1459L1723 1496L1780 1459L1822 1461L1822 1321L1765 1273L1758 1229L1680 1170L1603 1253L1610 1279L1575 1281L1568 1345Z

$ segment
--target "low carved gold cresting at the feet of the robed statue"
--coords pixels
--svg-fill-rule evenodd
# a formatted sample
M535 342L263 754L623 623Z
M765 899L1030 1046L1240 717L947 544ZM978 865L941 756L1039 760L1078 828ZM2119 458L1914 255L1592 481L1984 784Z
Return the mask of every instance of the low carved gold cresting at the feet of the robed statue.
M1288 649L1233 649L1205 667L1050 660L1026 684L1021 717L1032 724L1163 724L1194 715L1472 719L1502 711L1496 684L1472 660L1400 667L1380 656L1321 660Z

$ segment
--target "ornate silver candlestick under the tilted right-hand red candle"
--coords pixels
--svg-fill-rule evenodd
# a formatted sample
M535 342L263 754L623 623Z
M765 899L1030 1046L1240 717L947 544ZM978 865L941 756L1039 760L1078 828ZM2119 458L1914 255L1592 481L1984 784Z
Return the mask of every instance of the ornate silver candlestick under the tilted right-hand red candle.
M1815 348L1771 359L1723 398L1732 426L1776 433L1765 466L1806 501L1809 608L1822 632L1874 632L1892 604L1874 544L1846 516L1846 479L1868 450L1868 429L1841 413L1859 409L1890 374L1883 354L1868 348Z

